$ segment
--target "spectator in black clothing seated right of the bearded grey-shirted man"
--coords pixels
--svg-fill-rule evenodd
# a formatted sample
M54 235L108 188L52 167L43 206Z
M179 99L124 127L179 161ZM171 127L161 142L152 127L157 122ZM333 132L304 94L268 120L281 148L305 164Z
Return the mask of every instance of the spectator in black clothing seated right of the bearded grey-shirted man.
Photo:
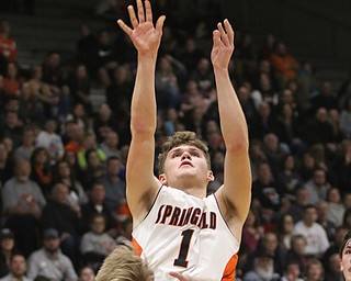
M57 183L50 200L43 210L43 229L55 228L59 233L60 248L75 263L78 262L80 229L80 210L75 211L68 203L69 190L64 183ZM75 263L76 265L76 263Z

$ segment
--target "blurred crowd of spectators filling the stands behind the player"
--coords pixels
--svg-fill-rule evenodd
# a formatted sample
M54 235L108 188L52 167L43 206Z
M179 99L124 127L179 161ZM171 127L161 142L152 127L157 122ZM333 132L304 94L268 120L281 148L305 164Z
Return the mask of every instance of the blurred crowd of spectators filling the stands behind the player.
M171 12L177 1L167 2L157 1L169 22L156 69L156 155L176 131L194 131L212 156L211 193L223 182L225 146L210 53L199 42L211 40L213 23L199 13L185 26ZM220 16L211 11L212 20ZM77 280L80 272L90 280L116 244L131 239L124 167L136 53L117 26L94 33L83 23L69 67L53 50L27 72L10 27L1 21L0 277L27 267L31 280ZM253 179L237 278L340 280L338 248L351 229L351 79L335 91L274 35L254 45L245 32L236 36L230 76L247 117ZM93 85L105 93L98 108Z

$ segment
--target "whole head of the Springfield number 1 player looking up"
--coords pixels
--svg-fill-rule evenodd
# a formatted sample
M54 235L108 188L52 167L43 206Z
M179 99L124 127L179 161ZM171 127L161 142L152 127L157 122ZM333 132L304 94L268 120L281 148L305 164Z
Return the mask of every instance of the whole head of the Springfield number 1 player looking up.
M174 188L207 187L214 180L208 147L189 131L177 132L163 144L158 171L161 183Z

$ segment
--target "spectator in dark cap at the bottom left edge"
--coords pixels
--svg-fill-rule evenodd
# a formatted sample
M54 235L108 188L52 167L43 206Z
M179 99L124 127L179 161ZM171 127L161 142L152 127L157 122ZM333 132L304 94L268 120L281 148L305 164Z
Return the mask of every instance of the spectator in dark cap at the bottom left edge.
M16 252L13 233L9 228L0 232L0 278L10 273L11 257Z

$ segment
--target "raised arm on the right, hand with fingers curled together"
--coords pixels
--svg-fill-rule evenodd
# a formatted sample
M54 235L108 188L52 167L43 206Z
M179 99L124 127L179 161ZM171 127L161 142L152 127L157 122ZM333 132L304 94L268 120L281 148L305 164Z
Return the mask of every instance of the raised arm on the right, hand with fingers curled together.
M213 32L211 59L214 68L220 127L226 144L224 184L216 192L219 207L239 239L251 200L248 128L241 105L230 82L228 64L234 52L235 33L228 20Z

